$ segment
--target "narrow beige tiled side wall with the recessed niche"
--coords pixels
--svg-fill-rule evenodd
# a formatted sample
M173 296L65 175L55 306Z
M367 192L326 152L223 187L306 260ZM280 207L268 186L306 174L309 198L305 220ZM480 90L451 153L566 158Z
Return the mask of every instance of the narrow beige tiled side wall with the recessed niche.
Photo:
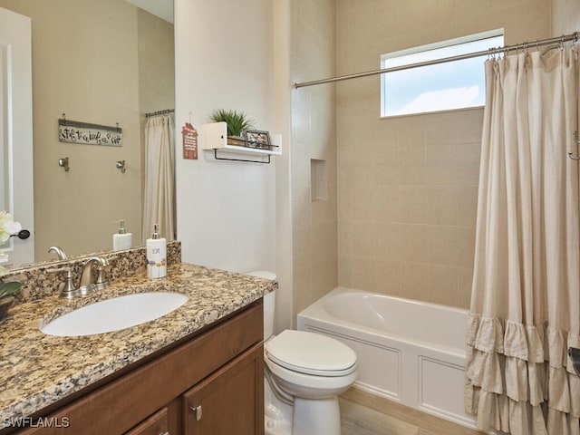
M335 0L292 2L291 79L334 75ZM334 86L292 92L294 315L337 285ZM311 159L326 160L327 199L311 200Z

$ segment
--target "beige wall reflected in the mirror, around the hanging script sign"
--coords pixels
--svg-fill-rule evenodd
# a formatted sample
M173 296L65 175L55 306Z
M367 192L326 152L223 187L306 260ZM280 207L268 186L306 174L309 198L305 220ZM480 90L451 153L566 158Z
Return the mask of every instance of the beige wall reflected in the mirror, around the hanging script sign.
M137 7L147 3L164 7L155 14ZM175 108L173 24L156 15L172 19L172 0L0 0L0 7L32 23L34 261L57 260L52 246L70 257L110 250L119 219L132 246L141 246L145 114ZM121 147L59 141L63 116L119 124ZM59 166L65 158L67 171Z

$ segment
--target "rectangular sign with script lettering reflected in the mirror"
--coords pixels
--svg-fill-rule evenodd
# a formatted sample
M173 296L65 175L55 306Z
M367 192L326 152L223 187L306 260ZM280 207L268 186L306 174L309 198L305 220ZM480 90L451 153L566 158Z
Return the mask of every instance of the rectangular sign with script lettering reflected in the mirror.
M88 122L58 120L58 140L84 145L121 147L122 129Z

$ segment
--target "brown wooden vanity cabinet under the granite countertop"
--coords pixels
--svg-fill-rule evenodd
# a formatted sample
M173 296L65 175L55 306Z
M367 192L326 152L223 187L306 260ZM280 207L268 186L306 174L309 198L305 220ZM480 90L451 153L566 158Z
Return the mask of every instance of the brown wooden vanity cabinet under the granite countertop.
M263 435L262 339L260 300L32 418L67 427L16 433Z

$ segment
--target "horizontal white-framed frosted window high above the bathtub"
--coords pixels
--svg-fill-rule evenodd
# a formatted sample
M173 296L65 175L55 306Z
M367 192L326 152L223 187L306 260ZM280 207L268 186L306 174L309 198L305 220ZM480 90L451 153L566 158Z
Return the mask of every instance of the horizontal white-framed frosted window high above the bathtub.
M383 54L381 67L421 63L504 44L503 29ZM382 116L449 111L485 104L487 54L381 74Z

